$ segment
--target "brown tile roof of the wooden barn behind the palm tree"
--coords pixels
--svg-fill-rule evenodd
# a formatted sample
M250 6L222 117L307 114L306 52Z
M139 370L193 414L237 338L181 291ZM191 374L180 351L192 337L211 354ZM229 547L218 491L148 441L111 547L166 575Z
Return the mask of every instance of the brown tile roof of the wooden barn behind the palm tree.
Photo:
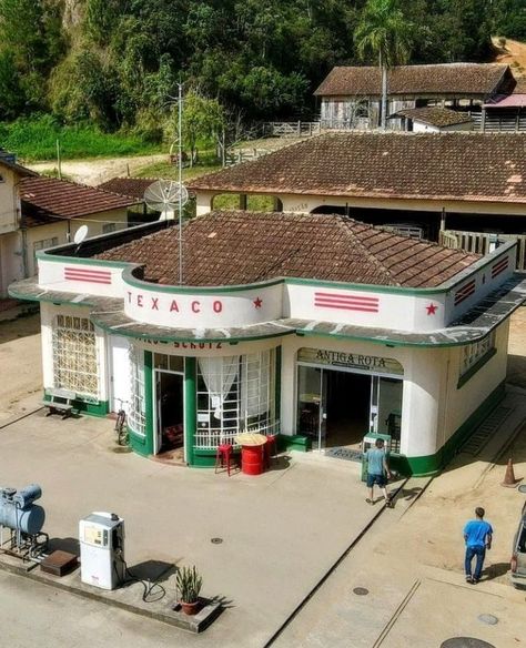
M502 63L398 65L387 73L390 94L478 94L495 92L512 77ZM376 97L382 94L377 67L336 67L314 91L317 97Z

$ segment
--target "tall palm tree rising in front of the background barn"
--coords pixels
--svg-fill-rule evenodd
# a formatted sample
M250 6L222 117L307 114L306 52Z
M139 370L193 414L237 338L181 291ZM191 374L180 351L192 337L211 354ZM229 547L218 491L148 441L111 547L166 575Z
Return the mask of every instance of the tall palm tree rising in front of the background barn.
M387 119L387 70L407 62L412 33L413 24L404 18L397 0L367 0L354 32L354 42L358 55L365 59L373 54L382 70L382 129Z

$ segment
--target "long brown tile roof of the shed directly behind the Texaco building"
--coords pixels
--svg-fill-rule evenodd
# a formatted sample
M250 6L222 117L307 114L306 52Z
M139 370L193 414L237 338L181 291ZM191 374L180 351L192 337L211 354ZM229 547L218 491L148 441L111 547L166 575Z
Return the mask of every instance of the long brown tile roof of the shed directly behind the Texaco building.
M189 182L194 191L526 203L520 133L337 133Z

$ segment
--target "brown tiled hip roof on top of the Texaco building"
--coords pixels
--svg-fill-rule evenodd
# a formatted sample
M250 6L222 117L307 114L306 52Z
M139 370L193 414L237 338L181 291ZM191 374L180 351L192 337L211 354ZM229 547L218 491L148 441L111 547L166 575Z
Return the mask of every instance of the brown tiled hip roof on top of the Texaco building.
M179 230L162 230L97 259L143 264L146 281L178 284ZM183 230L184 283L196 286L290 276L431 287L478 259L335 215L216 211Z

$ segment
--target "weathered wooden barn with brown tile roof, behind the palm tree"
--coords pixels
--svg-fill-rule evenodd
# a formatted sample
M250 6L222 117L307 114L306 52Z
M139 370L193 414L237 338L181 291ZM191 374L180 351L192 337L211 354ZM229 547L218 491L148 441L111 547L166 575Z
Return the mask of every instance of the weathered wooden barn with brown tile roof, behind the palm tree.
M447 63L399 65L387 73L387 114L442 107L469 112L484 128L484 104L508 95L515 87L508 65ZM377 67L336 67L314 92L321 100L321 125L327 129L374 129L380 123L382 77ZM393 119L391 129L402 129Z

